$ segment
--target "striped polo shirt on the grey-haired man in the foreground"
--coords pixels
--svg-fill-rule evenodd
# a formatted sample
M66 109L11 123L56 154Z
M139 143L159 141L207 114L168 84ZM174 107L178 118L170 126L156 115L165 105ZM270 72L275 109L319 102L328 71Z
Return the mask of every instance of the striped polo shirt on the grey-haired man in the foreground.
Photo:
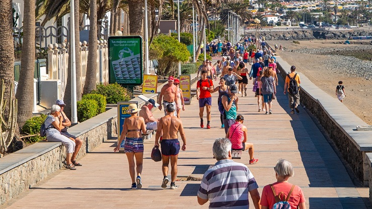
M247 166L220 160L204 174L198 196L209 199L209 208L249 208L248 192L258 185Z

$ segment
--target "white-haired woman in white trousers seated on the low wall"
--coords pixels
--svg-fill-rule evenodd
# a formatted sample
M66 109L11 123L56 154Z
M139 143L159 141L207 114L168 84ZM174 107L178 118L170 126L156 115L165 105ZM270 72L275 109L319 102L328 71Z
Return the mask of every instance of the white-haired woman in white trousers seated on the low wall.
M46 139L48 142L61 142L66 147L66 168L76 170L75 165L71 162L71 155L75 150L75 142L61 134L63 117L61 108L58 105L53 105L50 108L50 114L45 119Z

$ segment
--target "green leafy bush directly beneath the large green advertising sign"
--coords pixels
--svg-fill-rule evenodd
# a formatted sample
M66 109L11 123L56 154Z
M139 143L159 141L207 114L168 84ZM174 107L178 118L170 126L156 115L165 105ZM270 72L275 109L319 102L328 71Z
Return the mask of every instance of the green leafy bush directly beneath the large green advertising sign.
M102 94L106 96L107 104L117 104L121 101L132 99L132 92L119 84L98 84L97 90L91 91L92 94Z

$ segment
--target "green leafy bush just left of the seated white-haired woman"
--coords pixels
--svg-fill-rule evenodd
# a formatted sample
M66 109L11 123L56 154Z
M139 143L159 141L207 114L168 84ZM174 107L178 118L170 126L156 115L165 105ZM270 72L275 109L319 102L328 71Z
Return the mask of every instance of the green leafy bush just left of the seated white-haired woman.
M25 124L22 126L22 132L24 132L27 135L33 135L33 134L39 133L40 127L43 124L47 116L48 115L40 115L40 116L35 116L35 117L32 117L26 120ZM36 143L44 139L45 137L36 135L36 136L23 138L23 141L25 141L26 143Z

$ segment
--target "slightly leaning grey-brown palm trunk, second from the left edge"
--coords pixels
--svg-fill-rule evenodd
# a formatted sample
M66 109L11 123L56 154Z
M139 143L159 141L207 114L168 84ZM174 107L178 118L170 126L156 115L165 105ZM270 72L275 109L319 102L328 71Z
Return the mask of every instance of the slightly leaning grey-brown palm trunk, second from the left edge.
M20 79L17 87L18 99L17 121L20 127L32 116L34 104L34 71L35 71L35 0L24 1L23 44ZM30 106L31 105L31 106Z

